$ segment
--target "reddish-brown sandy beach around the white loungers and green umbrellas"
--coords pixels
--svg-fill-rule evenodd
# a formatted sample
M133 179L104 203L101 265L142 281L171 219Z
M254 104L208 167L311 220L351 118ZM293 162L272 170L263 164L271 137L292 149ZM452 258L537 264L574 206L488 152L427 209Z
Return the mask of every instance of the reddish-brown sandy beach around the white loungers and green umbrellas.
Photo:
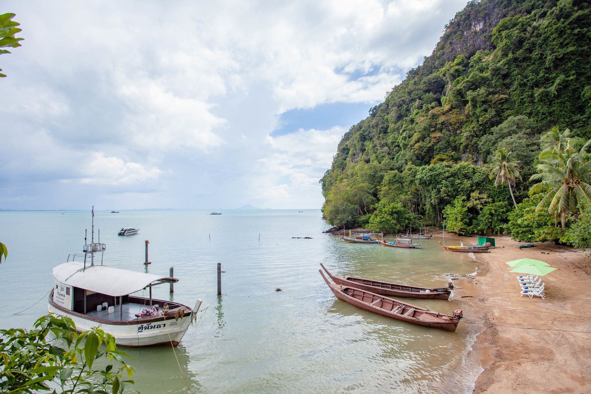
M465 244L476 243L475 237L446 234L446 240L448 237L450 241L460 238ZM469 319L478 319L485 327L469 353L483 368L475 392L591 392L589 258L580 250L553 243L519 249L521 243L509 237L495 238L497 247L491 253L475 254L480 261L478 274L454 281L463 288L457 297L472 296L464 298L472 301ZM520 297L517 274L509 272L505 261L523 257L556 268L542 277L545 299Z

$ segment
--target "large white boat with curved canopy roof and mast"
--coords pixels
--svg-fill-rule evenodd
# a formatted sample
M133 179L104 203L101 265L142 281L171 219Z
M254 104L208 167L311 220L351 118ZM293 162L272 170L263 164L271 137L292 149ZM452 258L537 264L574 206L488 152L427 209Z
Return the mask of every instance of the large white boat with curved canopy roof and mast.
M66 263L52 271L54 286L48 296L50 313L68 317L79 332L100 326L121 346L172 344L183 338L196 320L201 299L195 306L152 298L152 287L176 283L165 275L124 270L95 264L95 254L104 253L105 244L92 241L84 254L70 254ZM72 257L73 256L73 257ZM70 261L72 257L72 261ZM83 261L74 261L75 259ZM148 290L149 297L134 295Z

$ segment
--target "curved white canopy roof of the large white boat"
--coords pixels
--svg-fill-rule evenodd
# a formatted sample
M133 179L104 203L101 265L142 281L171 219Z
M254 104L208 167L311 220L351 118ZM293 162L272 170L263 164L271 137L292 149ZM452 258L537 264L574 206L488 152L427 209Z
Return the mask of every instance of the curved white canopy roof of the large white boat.
M107 266L89 266L79 261L70 261L54 267L53 277L57 282L75 288L110 296L124 296L161 283L174 283L178 279Z

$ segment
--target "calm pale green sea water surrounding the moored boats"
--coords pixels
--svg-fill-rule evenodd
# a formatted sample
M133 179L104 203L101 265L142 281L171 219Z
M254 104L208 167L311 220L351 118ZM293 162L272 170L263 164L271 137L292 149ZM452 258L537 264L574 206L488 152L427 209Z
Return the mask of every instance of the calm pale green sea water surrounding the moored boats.
M405 324L339 301L318 273L419 286L444 286L443 274L472 273L478 263L446 253L435 240L422 250L349 244L328 234L319 210L95 212L95 229L107 245L105 264L174 274L174 300L203 299L199 320L176 348L193 392L428 392L469 389L470 377L449 385L476 326L456 332ZM80 253L89 212L0 212L0 241L9 250L0 266L1 328L31 327L47 313L51 269ZM121 227L140 232L118 237ZM259 241L260 232L260 241ZM211 236L211 239L209 238ZM312 237L311 240L291 237ZM216 295L216 263L222 292ZM281 292L275 292L281 288ZM169 299L168 286L154 298ZM439 312L466 308L462 299L413 300ZM469 313L468 313L469 315ZM125 350L125 349L124 349ZM137 361L135 388L143 393L189 392L170 347L126 349Z

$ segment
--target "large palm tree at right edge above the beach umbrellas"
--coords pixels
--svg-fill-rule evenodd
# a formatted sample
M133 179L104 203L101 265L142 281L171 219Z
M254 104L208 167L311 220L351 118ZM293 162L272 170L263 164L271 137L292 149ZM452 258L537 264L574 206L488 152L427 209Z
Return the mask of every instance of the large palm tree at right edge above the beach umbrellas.
M560 214L562 227L567 215L582 211L591 196L591 159L586 154L591 140L577 151L570 140L566 146L556 147L540 156L539 173L530 180L539 180L530 189L530 195L547 192L536 211L548 208L551 214Z

